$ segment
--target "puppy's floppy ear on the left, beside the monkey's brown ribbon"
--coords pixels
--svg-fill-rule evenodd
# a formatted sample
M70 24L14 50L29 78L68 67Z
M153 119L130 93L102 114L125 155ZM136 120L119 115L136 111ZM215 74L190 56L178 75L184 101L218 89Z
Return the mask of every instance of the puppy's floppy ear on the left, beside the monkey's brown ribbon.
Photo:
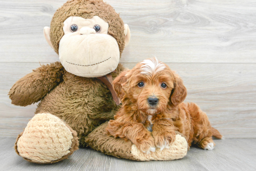
M115 92L117 93L117 96L122 99L125 95L124 87L123 85L127 81L126 74L129 72L129 70L121 72L112 82L113 88Z

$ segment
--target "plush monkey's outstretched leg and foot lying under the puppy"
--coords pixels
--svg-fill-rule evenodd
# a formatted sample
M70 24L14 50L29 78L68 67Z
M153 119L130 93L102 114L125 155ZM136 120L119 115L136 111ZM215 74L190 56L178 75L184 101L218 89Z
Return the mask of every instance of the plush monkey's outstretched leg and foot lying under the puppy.
M183 158L187 154L188 143L179 134L176 135L176 140L170 145L169 149L160 151L159 148L156 148L155 152L145 154L138 150L136 145L132 144L131 141L125 141L124 139L107 135L105 133L107 125L108 122L103 123L85 138L88 146L107 155L137 161L175 160Z

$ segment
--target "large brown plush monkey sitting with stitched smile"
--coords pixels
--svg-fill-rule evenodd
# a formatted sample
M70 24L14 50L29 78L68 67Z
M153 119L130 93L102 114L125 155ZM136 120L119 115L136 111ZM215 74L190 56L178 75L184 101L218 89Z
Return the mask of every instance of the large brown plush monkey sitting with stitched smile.
M9 92L12 104L38 101L35 116L15 143L25 160L46 164L67 158L78 146L131 160L173 160L187 153L187 142L177 135L173 148L143 154L130 141L105 134L118 109L112 77L130 41L130 30L114 9L101 0L71 0L59 8L44 28L49 45L59 54L55 62L33 70ZM103 83L102 81L105 83Z

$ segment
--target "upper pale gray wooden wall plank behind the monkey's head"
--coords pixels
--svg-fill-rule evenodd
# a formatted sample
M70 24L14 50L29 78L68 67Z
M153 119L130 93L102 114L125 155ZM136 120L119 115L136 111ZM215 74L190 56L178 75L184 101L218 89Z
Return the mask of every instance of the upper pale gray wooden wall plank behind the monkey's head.
M43 36L66 0L0 0L0 62L54 62ZM254 0L109 0L130 26L121 62L256 63Z

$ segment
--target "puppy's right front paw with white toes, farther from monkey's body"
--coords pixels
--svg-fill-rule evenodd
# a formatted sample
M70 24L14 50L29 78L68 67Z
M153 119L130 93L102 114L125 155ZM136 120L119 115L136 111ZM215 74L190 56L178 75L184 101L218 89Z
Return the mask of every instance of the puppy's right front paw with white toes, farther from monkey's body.
M171 145L175 141L176 134L170 132L163 132L160 134L156 134L154 138L156 147L160 148L160 151L162 151L165 148L170 148L169 145Z

